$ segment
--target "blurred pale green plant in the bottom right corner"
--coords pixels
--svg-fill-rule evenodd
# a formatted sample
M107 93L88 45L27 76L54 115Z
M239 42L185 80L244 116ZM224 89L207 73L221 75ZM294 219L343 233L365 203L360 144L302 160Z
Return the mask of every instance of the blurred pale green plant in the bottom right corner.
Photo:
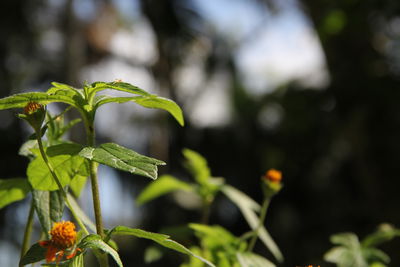
M400 236L400 230L389 224L381 224L361 242L354 233L336 234L331 236L331 242L337 246L326 252L324 259L338 267L385 267L390 258L376 246L397 236Z

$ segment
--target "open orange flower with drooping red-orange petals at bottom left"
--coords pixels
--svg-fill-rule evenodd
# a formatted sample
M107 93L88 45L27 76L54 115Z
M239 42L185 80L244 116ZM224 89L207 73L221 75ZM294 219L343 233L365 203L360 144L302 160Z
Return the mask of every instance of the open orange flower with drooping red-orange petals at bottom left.
M47 248L46 262L59 262L66 256L66 259L73 258L77 251L74 249L76 242L75 225L72 222L57 222L54 223L50 231L51 239L39 241L41 247Z

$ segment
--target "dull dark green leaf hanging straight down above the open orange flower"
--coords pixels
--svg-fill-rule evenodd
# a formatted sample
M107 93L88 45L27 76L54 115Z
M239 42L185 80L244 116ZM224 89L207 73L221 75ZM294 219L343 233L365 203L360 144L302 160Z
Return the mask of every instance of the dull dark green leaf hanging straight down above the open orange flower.
M61 221L64 197L60 191L32 191L33 205L47 239L53 223Z

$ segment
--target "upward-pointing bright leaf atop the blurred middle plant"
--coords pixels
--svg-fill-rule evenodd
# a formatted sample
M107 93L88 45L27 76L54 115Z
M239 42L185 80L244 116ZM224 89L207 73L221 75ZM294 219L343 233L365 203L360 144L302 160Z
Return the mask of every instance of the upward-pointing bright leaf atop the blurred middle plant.
M186 168L192 173L199 184L205 184L211 176L207 160L196 151L188 148L184 148L182 153L186 158Z

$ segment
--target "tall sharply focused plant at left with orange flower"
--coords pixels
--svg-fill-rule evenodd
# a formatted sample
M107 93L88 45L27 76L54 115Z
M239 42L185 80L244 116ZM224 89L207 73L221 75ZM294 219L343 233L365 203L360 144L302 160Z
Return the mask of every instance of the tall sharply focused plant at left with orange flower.
M123 266L115 243L115 235L129 235L153 240L169 249L194 256L209 266L211 262L194 254L169 236L151 233L141 229L116 226L103 229L100 195L98 190L97 167L104 164L132 174L157 179L157 166L165 163L122 147L115 143L95 144L95 117L99 107L108 103L133 102L146 108L168 111L183 125L179 106L166 98L150 94L136 86L120 81L95 82L77 89L66 84L52 83L46 92L29 92L0 99L0 110L24 108L18 116L26 120L34 129L31 140L22 145L20 154L30 159L27 179L14 178L0 180L0 208L32 195L32 203L27 219L25 236L21 250L20 266L42 261L43 266L84 266L83 256L92 249L100 266L108 266L107 254L118 266ZM99 95L107 89L130 94L125 97ZM52 115L46 105L53 102L67 104L65 110ZM71 108L79 111L81 119L64 122L64 114ZM83 122L86 129L86 144L77 144L64 139L64 134L77 123ZM43 140L43 137L46 137ZM75 197L79 197L82 187L90 178L95 223L92 223L79 208ZM73 219L80 226L60 222L66 206ZM37 214L46 241L30 245L32 222ZM95 232L95 233L93 233ZM55 262L55 263L54 263Z

